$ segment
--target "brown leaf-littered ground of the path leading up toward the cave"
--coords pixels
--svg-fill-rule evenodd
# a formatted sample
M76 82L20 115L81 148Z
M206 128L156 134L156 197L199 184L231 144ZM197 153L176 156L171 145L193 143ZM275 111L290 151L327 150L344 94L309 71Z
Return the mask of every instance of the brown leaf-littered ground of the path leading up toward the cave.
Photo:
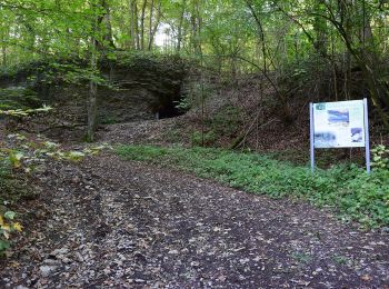
M100 138L159 142L171 122L116 124ZM110 152L47 168L0 287L389 287L388 235L329 211Z

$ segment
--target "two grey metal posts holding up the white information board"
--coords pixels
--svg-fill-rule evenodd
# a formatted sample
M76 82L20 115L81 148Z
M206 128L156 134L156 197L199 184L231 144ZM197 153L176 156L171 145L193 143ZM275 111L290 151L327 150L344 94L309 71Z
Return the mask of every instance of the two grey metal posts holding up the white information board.
M366 171L370 173L370 136L369 136L369 116L368 116L368 100L363 98L363 129L365 129L365 157L366 157ZM315 113L313 106L317 103L309 103L309 124L310 124L310 165L311 173L315 172Z

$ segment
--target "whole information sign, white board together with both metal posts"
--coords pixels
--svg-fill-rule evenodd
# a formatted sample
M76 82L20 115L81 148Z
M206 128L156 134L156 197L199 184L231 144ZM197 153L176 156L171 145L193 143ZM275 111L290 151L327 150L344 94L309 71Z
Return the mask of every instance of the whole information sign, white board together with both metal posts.
M366 170L370 173L368 101L350 100L309 103L310 159L315 171L315 149L363 148Z

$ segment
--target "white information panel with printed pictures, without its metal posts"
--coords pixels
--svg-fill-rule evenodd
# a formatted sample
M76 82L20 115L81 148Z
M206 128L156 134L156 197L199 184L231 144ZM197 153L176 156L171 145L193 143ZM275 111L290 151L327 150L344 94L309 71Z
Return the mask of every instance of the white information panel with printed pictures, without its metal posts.
M365 147L363 100L313 103L315 148Z

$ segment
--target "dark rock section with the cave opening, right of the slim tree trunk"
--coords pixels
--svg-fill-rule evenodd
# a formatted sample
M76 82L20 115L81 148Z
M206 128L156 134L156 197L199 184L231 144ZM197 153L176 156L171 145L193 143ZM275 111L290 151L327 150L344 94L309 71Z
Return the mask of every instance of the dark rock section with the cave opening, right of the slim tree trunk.
M127 122L139 119L173 117L182 97L186 71L181 60L174 58L137 58L117 60L103 67L104 74L119 88L101 90L101 118L106 122ZM116 118L113 121L109 118ZM108 119L107 119L108 118Z

